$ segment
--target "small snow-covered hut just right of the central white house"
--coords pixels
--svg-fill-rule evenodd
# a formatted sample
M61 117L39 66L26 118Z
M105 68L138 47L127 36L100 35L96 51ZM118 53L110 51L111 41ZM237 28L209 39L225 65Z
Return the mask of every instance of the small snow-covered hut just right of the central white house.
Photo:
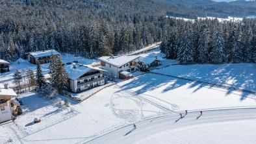
M153 67L157 67L157 66L161 66L162 65L162 58L155 56L155 57L140 57L140 61L144 62L149 69L153 68Z

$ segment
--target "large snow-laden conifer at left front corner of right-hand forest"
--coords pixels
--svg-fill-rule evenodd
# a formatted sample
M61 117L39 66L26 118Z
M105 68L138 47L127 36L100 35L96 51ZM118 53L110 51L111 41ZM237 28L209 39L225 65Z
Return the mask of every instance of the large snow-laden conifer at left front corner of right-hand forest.
M184 34L181 47L178 50L178 60L181 64L194 62L194 48L190 40L191 31L188 31Z

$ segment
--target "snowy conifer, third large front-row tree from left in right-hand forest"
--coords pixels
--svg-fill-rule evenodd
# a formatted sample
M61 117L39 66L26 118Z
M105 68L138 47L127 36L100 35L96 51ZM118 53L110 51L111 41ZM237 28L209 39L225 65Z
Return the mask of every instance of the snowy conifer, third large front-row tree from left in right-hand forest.
M212 51L209 54L210 62L218 64L225 62L225 42L220 32L212 38Z

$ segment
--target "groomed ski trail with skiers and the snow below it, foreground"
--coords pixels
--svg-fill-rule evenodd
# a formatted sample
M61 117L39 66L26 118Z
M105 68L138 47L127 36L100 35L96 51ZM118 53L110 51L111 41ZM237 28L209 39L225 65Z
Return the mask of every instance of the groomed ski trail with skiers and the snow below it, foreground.
M181 119L172 114L136 123L135 130L125 126L88 143L254 143L255 122L255 107L207 110L201 116L188 112Z

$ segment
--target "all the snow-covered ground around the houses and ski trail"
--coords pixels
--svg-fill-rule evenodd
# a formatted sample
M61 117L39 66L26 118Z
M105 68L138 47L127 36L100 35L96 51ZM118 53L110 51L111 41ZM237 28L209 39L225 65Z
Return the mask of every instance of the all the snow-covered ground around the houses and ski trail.
M159 49L141 55L164 57ZM76 59L68 54L62 56L62 59L65 63L73 60L84 60L84 64L96 62ZM12 71L0 76L0 83L11 82L14 68L23 71L27 67L36 68L29 62L19 63L14 63ZM252 91L256 89L256 68L253 64L171 66L176 63L164 60L163 66L154 72L228 84ZM47 67L47 64L42 65L45 75ZM13 143L86 143L105 134L106 137L90 143L255 141L255 95L153 73L134 75L138 77L120 81L81 103L70 100L75 112L71 112L71 108L62 109L58 102L38 97L33 92L20 95L21 101L27 105L23 106L23 110L29 108L29 112L20 115L16 124L0 126L0 143L6 143L8 139L12 139ZM86 97L88 93L90 91L84 91L76 96ZM63 101L65 98L61 99ZM188 110L188 115L179 119L179 113L184 114L185 110ZM203 110L201 117L198 117L199 110ZM42 122L33 124L34 117L41 118ZM130 125L133 123L137 123L137 129L131 131L133 126Z

